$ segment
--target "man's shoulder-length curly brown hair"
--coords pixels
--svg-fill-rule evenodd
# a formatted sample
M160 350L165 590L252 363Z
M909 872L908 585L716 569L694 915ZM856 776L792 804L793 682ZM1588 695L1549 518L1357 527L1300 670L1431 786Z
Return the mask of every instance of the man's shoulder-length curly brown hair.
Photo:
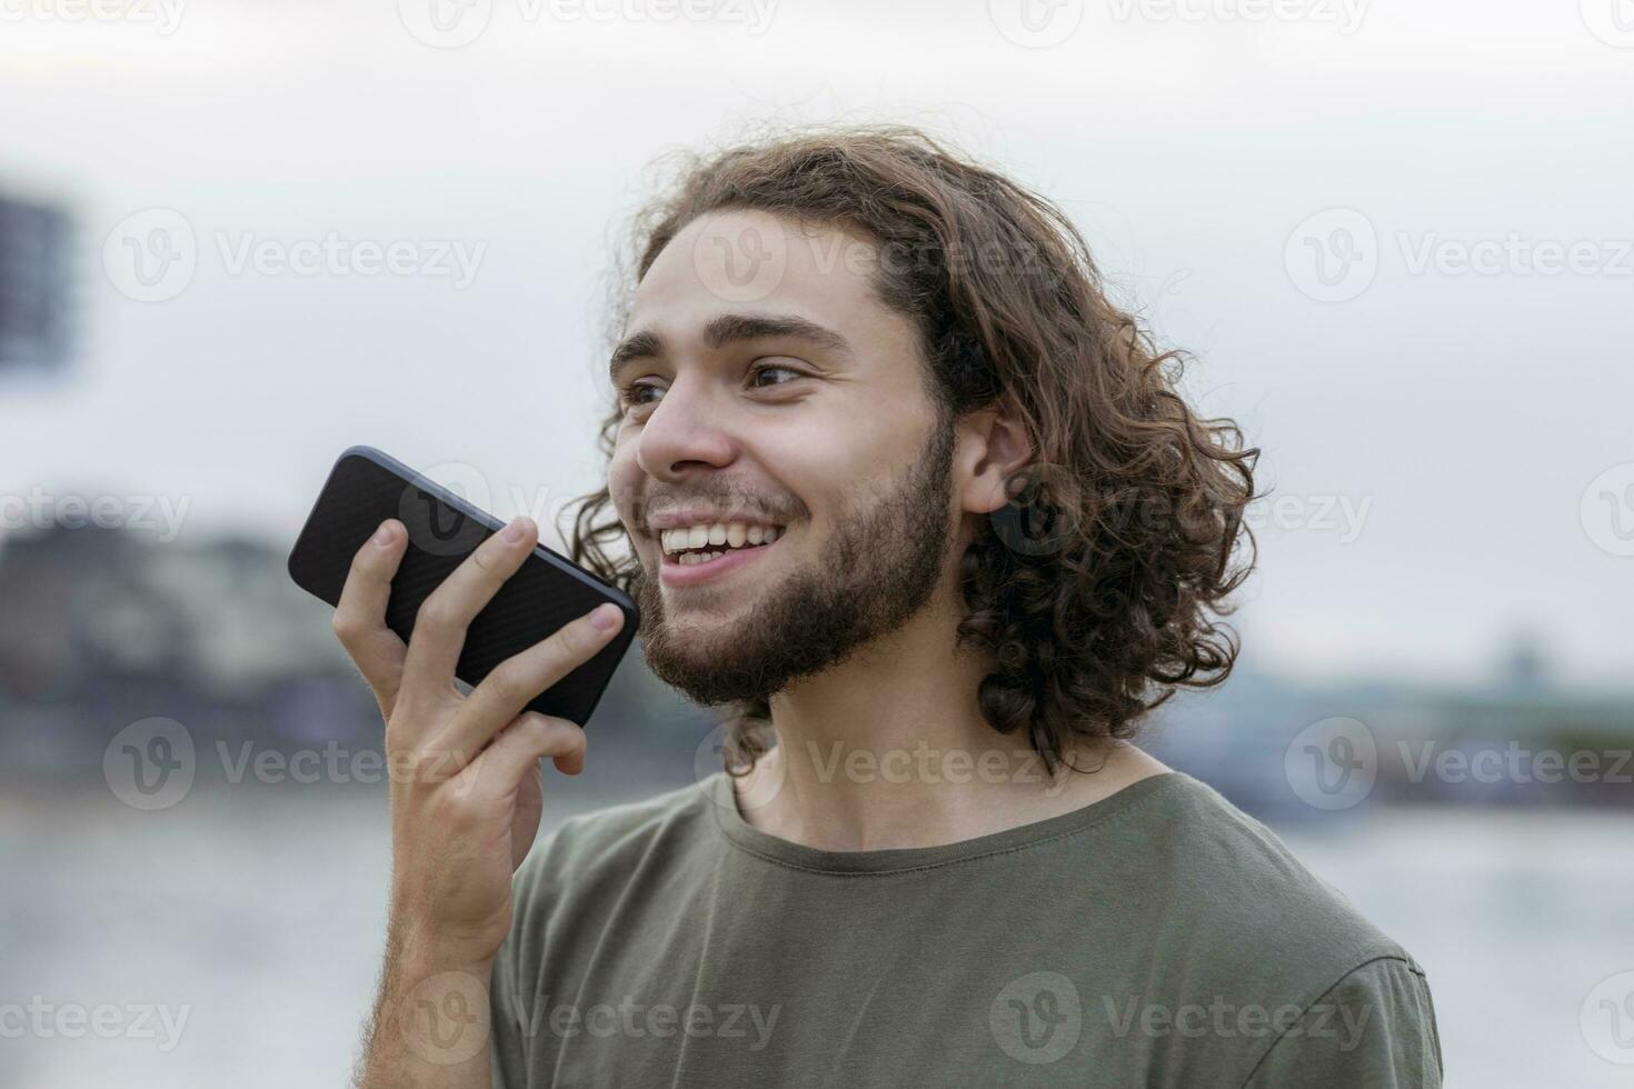
M1007 398L1033 459L961 558L961 647L987 651L979 699L1054 772L1075 738L1134 736L1178 686L1230 676L1227 594L1255 565L1243 511L1258 447L1178 393L1186 353L1159 351L1114 305L1065 214L909 126L825 126L714 153L680 152L678 176L636 214L614 279L616 340L636 286L691 220L757 209L845 229L882 253L881 302L922 333L943 421ZM629 268L631 258L634 268ZM886 260L894 258L894 260ZM629 274L629 273L634 274ZM613 456L616 403L600 449ZM577 500L570 555L629 591L632 552L611 493ZM1234 567L1239 539L1248 557ZM725 709L725 764L766 751L765 700Z

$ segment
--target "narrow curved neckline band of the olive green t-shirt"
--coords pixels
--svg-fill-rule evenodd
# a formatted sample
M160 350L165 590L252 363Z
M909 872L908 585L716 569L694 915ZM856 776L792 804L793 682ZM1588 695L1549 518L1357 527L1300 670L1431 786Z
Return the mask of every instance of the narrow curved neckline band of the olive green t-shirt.
M1123 813L1129 807L1185 779L1185 772L1170 769L1137 779L1106 798L1090 802L1069 813L1046 816L1029 825L1018 825L1003 831L987 833L985 836L975 836L974 839L961 839L935 847L886 847L881 851L822 851L755 828L737 808L732 780L724 771L714 772L706 793L712 802L709 808L714 810L716 826L725 838L737 847L768 862L820 873L904 873L949 862L1005 854L1082 831Z

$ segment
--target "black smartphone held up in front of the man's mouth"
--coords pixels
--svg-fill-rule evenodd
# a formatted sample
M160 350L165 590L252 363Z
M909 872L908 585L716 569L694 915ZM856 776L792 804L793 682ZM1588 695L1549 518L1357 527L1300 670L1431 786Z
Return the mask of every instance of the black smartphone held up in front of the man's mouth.
M397 459L371 446L353 446L335 462L312 504L289 552L289 576L307 593L338 606L351 557L387 518L408 529L408 547L386 604L386 627L407 643L426 596L505 526ZM471 622L454 676L471 686L480 684L493 666L605 601L624 612L624 627L595 658L528 704L528 710L583 727L629 650L641 614L629 594L544 545L523 560Z

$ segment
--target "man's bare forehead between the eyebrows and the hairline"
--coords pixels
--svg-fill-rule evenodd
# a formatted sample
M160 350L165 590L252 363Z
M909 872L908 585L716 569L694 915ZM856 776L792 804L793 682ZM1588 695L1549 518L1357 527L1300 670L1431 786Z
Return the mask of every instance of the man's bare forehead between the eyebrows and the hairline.
M627 328L696 335L724 312L797 313L868 343L907 320L874 292L877 248L840 227L758 209L699 216L642 278Z

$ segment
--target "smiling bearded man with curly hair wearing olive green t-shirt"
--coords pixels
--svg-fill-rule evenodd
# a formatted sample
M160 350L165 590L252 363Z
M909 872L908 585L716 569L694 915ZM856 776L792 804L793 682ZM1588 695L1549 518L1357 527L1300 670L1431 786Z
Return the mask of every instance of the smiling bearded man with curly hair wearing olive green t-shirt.
M462 697L536 527L404 647L387 522L337 630L425 774L392 785L363 1084L1440 1084L1412 957L1129 743L1230 673L1208 614L1252 568L1258 451L1060 212L889 127L691 160L639 222L570 544L657 676L729 710L727 769L528 854L538 759L574 774L585 736L521 709L611 630Z

